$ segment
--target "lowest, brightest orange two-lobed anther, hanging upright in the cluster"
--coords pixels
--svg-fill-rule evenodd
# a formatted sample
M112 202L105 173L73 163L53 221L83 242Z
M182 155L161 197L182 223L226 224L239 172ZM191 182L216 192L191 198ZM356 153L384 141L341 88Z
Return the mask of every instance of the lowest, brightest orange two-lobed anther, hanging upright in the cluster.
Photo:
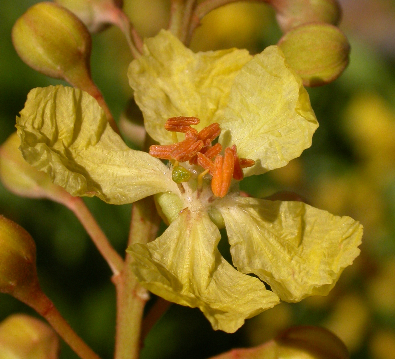
M225 156L216 156L214 161L213 179L211 189L216 197L225 197L232 182L233 171L235 169L235 157L230 147L225 149Z

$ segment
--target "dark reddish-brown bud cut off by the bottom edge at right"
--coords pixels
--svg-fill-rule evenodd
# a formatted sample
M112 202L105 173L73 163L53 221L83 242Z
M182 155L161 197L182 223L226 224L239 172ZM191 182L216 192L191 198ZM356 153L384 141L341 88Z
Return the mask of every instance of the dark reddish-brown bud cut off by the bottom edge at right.
M321 327L293 327L275 339L279 358L348 359L343 342Z

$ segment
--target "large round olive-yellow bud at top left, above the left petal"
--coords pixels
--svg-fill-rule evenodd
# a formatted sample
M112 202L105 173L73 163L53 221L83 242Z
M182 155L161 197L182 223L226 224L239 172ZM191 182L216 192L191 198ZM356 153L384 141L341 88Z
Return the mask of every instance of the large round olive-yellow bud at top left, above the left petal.
M91 81L90 34L71 11L58 4L39 2L30 7L15 22L12 42L21 59L36 71L77 87Z

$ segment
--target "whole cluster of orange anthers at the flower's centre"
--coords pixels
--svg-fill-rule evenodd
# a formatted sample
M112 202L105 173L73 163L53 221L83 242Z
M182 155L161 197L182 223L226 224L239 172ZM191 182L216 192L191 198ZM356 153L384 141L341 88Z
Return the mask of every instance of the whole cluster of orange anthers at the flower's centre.
M197 125L199 122L199 118L196 117L169 118L165 128L173 132L173 145L153 145L149 153L164 160L189 161L191 165L200 165L205 171L199 175L199 179L202 180L204 175L210 173L213 176L213 194L222 198L228 193L232 178L242 180L243 168L251 167L255 162L248 158L239 158L235 145L225 148L225 155L220 155L222 145L212 145L221 133L220 125L213 123L198 132L191 125ZM185 133L184 141L178 142L176 132Z

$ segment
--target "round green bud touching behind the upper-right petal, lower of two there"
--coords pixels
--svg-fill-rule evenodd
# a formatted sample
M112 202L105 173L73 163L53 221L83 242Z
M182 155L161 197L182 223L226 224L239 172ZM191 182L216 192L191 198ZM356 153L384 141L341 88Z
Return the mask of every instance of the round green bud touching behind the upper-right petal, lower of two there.
M350 44L336 26L311 23L287 32L278 45L305 86L337 79L348 65Z

